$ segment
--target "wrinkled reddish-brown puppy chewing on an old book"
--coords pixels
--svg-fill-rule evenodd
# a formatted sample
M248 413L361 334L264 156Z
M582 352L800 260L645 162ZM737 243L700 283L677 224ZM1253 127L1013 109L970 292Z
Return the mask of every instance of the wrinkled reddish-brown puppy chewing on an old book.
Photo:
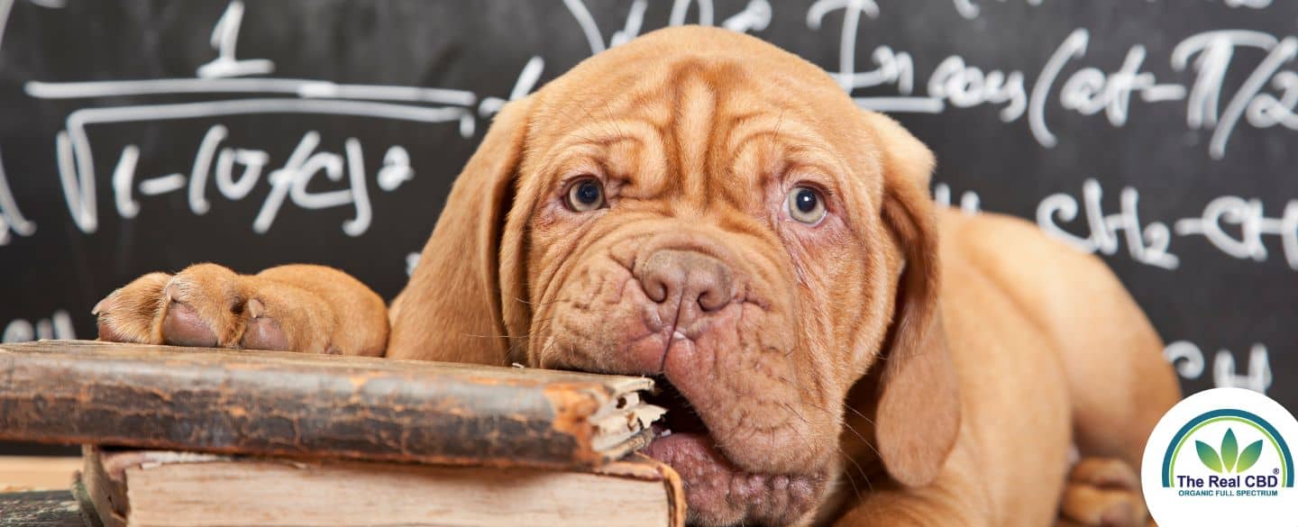
M1158 336L1098 260L935 210L932 169L814 65L663 30L496 117L387 318L340 271L200 265L100 335L655 375L697 524L1141 521Z

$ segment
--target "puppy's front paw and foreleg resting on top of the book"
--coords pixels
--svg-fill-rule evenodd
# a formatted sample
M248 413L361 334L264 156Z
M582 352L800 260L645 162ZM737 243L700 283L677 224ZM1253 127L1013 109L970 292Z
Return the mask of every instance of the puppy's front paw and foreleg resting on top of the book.
M152 273L101 300L101 340L382 356L383 300L336 269L286 265L257 275L199 264Z

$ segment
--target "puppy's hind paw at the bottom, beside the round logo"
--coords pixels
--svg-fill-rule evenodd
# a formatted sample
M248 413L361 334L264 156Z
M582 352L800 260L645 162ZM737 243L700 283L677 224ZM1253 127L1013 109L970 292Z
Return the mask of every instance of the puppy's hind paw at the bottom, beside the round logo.
M1115 458L1079 461L1064 485L1059 514L1060 526L1140 527L1149 522L1140 478Z

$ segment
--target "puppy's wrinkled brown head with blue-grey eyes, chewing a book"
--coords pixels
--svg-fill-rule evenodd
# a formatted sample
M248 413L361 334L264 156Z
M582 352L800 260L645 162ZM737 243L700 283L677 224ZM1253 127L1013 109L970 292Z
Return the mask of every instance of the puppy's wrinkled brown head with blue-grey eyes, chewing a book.
M663 30L509 104L421 270L463 282L436 315L504 335L500 361L657 376L670 410L648 453L684 478L693 523L806 521L867 373L866 439L894 479L931 480L954 441L932 165L818 67Z

